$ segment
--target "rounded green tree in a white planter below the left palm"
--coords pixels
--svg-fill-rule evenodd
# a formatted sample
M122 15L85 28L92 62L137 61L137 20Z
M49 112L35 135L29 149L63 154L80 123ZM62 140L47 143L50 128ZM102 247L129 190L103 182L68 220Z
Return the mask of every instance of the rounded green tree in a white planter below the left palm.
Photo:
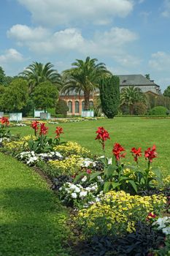
M44 109L54 108L58 100L58 89L49 81L39 83L34 90L34 105L36 108Z

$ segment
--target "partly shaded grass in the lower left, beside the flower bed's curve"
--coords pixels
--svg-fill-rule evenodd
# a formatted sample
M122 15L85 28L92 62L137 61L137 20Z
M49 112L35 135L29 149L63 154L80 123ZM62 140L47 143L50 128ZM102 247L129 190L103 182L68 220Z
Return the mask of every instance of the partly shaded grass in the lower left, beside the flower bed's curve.
M0 154L0 255L68 256L66 209L29 167Z

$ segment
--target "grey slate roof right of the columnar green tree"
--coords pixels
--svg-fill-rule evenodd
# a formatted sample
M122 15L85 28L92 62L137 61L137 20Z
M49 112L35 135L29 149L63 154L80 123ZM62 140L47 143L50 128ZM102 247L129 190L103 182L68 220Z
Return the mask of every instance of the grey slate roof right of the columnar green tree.
M144 75L117 76L120 78L120 86L158 86L153 80L145 78Z

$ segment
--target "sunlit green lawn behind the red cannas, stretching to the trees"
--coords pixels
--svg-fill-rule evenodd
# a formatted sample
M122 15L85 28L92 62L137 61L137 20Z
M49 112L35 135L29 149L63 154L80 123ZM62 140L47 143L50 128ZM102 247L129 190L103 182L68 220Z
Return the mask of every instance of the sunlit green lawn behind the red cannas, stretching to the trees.
M96 137L96 129L99 126L105 127L111 140L107 142L107 155L112 156L113 143L122 144L127 151L131 147L142 147L142 151L147 147L156 145L158 159L154 159L153 165L159 165L163 169L164 175L170 174L169 155L170 155L170 119L169 118L114 118L101 119L98 121L84 121L79 123L59 124L63 127L64 135L62 140L74 140L82 146L89 148L93 154L102 154L101 146ZM49 125L49 135L54 136L56 125ZM31 127L14 127L12 133L20 135L34 134ZM128 152L127 161L133 161ZM142 159L142 165L145 164Z

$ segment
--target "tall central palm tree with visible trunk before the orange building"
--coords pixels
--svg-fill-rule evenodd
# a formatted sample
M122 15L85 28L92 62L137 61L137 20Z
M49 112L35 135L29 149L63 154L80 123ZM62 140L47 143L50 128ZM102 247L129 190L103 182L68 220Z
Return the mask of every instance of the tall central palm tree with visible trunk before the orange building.
M98 87L98 81L111 73L107 70L104 63L96 64L97 59L87 57L85 61L76 59L72 63L71 69L63 72L65 85L62 92L75 90L76 93L82 91L85 97L85 110L90 109L90 94Z

